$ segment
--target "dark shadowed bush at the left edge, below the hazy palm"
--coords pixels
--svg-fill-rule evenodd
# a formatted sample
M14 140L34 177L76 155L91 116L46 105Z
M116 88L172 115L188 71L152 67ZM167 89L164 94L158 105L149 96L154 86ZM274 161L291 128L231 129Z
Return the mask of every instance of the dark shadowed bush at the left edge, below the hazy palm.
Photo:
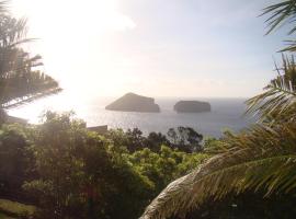
M0 131L0 191L2 196L19 197L21 186L33 172L33 153L27 136L30 128L3 125Z

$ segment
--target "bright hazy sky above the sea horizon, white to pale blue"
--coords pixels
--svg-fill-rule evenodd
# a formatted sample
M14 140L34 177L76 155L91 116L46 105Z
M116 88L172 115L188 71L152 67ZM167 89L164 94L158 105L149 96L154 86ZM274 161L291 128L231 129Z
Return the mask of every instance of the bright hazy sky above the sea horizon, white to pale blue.
M275 76L271 0L12 0L26 45L72 96L250 97ZM275 1L276 2L276 1Z

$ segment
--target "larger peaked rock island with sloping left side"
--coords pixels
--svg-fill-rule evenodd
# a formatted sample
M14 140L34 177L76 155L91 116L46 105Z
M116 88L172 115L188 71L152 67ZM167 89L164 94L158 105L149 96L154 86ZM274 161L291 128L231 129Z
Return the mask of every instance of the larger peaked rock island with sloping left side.
M105 107L109 111L159 113L159 105L155 99L127 93Z

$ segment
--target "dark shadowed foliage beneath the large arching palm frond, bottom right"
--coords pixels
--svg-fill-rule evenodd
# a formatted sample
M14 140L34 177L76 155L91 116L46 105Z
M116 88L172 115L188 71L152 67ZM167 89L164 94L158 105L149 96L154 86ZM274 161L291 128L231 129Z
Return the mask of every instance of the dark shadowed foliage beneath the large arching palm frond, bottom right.
M228 194L219 200L210 198L198 210L189 212L186 218L292 219L296 214L293 207L295 200L296 198L288 194L264 197L263 193L248 191L239 195Z

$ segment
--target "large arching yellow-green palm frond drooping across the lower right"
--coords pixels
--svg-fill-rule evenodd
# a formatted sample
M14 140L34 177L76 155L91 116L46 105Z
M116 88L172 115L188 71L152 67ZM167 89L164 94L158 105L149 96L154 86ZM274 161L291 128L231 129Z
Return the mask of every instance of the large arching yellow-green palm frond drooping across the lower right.
M296 124L277 129L254 126L228 139L232 146L205 164L171 183L146 209L141 219L182 217L209 198L247 189L291 193L296 188Z

